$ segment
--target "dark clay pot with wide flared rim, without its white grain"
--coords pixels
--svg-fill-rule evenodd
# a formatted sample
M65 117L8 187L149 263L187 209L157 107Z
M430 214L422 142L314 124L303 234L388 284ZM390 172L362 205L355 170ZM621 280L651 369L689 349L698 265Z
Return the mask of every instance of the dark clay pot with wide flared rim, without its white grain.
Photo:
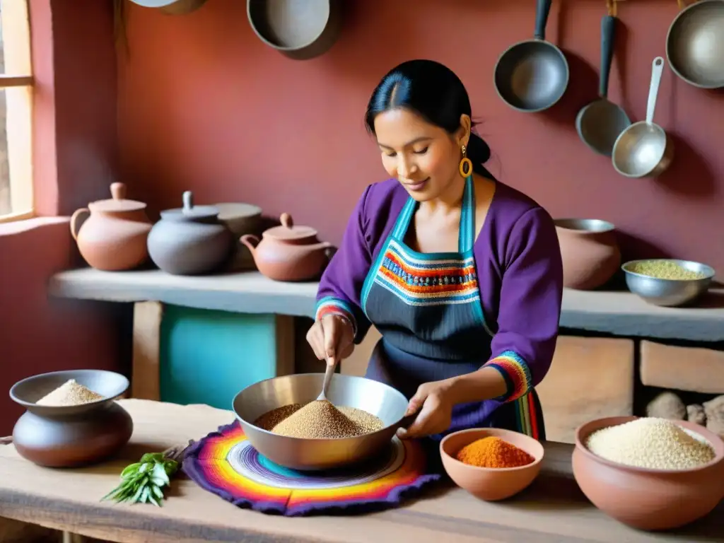
M102 400L53 407L36 405L69 379L103 396ZM12 431L17 452L40 466L70 468L97 463L118 452L131 437L130 415L114 402L128 389L128 379L113 371L53 371L15 383L10 397L25 407Z

